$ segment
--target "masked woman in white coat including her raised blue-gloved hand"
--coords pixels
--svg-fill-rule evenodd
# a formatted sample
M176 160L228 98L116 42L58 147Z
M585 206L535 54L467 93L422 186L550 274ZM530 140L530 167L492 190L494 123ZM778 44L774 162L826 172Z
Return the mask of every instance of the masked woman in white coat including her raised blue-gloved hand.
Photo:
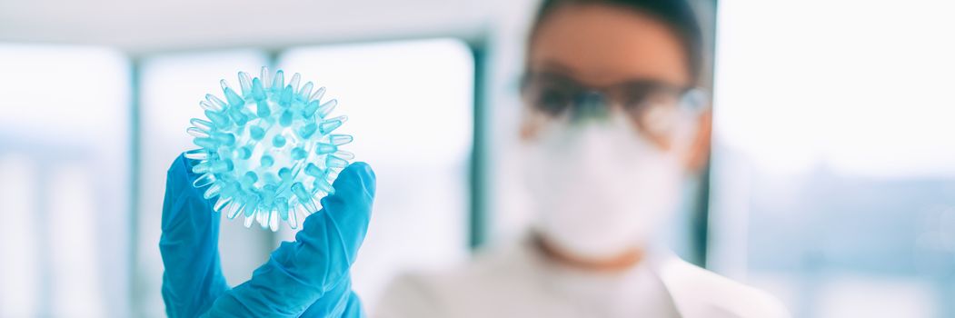
M544 0L528 41L520 133L532 233L446 272L399 277L380 317L784 317L771 296L652 243L706 157L701 39L680 0ZM159 247L170 316L359 316L349 267L374 174L355 163L240 286L225 285L210 202L169 170Z

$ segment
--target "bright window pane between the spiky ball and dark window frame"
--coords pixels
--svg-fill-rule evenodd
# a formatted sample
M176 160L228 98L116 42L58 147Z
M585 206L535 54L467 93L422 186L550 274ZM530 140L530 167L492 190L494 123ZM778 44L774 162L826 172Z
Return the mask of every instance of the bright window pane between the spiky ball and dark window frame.
M365 305L373 309L401 270L462 260L475 80L465 44L435 39L299 48L280 62L288 74L301 73L338 99L335 114L349 117L340 129L355 137L347 148L377 175L375 214L352 267Z

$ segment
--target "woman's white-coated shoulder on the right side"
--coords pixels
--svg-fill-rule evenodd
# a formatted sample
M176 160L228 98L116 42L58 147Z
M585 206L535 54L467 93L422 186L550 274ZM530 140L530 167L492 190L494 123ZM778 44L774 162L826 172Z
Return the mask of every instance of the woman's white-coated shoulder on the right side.
M689 317L790 317L775 296L672 257L659 275ZM685 308L684 308L685 307Z

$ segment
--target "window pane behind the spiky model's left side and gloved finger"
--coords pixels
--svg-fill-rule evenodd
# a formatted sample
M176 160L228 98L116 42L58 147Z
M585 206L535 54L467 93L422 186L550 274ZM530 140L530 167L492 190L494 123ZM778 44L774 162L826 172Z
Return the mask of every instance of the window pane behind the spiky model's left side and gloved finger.
M162 199L169 165L183 151L198 148L185 129L192 117L203 118L199 101L206 94L223 96L220 79L237 87L239 71L267 65L265 53L253 50L179 53L143 59L140 79L138 265L142 315L164 315L162 259L159 256ZM211 211L210 211L211 213ZM223 219L220 252L223 273L232 286L248 280L270 251L270 233L245 229Z

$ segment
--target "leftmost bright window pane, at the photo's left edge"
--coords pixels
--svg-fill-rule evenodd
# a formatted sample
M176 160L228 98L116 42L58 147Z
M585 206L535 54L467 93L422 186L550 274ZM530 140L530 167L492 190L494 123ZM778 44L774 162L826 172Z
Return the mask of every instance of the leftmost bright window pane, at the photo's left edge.
M0 45L0 316L129 313L129 65Z

